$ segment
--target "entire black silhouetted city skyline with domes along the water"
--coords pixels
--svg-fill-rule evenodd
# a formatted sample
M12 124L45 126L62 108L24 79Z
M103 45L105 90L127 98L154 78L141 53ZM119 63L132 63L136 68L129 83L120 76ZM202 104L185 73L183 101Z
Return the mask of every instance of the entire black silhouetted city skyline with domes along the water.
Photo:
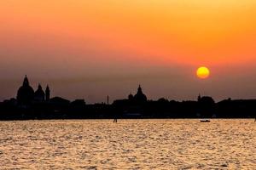
M47 102L45 102L45 100ZM224 99L218 103L210 96L199 94L197 101L182 102L160 98L148 100L141 86L137 94L128 99L117 99L113 104L85 105L84 99L70 102L54 97L50 99L49 86L43 90L38 84L34 92L25 77L18 89L17 99L0 102L0 120L24 119L80 119L80 118L255 118L256 99Z

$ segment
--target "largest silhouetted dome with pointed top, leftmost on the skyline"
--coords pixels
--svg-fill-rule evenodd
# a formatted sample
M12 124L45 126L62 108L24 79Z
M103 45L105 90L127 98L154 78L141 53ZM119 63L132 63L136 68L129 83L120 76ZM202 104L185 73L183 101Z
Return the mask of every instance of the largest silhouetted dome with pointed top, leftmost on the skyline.
M29 105L34 99L34 90L29 85L27 77L24 78L22 86L17 93L17 101L19 105Z

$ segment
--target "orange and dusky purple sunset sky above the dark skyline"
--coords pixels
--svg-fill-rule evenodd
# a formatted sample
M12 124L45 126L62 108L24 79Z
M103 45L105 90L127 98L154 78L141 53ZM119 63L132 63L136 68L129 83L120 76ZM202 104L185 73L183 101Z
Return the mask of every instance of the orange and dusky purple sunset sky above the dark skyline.
M256 99L255 0L0 1L0 100ZM207 79L196 69L207 66Z

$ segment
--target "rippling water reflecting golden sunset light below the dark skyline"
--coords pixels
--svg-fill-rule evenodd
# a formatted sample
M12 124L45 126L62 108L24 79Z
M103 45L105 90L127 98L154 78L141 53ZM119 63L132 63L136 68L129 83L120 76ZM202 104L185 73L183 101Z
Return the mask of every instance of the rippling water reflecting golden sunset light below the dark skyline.
M247 120L0 122L0 169L256 169Z

